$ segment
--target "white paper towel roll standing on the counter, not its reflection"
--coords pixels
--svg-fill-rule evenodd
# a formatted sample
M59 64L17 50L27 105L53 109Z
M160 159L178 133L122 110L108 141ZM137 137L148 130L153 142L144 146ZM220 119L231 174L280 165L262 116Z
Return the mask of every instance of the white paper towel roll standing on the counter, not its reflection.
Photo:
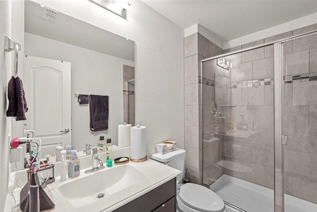
M147 156L147 128L131 127L131 159L142 159Z

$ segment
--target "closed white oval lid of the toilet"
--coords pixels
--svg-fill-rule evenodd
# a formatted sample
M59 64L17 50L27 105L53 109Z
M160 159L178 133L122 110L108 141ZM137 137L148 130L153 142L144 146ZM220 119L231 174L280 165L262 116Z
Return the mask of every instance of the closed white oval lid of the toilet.
M222 212L223 200L210 189L193 183L180 187L179 199L187 206L202 212Z

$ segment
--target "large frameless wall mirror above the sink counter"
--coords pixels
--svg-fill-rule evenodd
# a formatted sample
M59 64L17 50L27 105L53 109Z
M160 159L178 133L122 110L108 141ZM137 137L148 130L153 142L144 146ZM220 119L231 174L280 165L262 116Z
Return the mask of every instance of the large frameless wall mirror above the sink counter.
M135 120L134 41L62 13L48 20L46 12L45 5L25 1L24 89L29 111L24 130L45 138L42 157L53 156L58 143L64 148L71 144L72 149L83 149L85 143L97 146L100 136L118 145L118 125L134 125ZM55 62L70 71L34 71ZM109 96L108 130L90 130L89 104L79 104L77 94ZM56 107L60 112L52 112Z

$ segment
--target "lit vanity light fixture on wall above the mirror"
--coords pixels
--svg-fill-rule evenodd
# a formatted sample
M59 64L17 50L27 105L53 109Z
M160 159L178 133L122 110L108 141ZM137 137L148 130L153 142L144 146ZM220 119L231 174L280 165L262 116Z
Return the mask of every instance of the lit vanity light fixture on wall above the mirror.
M130 8L129 0L90 0L107 10L123 17L127 17L127 9Z

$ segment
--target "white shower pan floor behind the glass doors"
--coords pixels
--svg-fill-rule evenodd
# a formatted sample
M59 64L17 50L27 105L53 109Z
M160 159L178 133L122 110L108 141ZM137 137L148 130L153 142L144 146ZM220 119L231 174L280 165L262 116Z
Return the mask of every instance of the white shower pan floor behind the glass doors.
M211 184L210 189L223 201L247 212L274 212L274 191L223 174ZM317 212L317 204L284 195L285 212Z

